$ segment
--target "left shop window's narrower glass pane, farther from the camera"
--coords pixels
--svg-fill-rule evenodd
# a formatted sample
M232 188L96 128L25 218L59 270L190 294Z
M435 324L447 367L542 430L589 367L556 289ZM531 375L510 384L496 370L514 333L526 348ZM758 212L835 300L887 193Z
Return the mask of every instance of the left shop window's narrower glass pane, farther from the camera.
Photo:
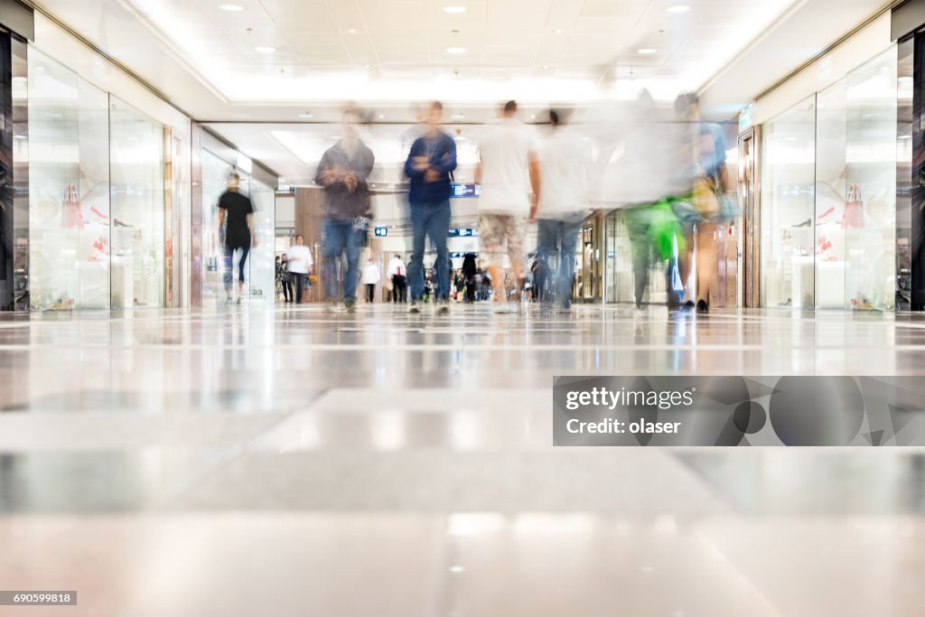
M112 306L164 306L164 125L110 98Z

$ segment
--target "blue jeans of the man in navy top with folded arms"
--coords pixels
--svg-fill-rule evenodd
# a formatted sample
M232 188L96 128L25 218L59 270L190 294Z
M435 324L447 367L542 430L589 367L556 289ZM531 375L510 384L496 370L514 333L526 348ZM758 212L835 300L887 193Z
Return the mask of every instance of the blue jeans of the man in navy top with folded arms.
M434 204L411 204L413 246L408 262L408 286L412 301L424 298L424 250L427 236L437 247L437 300L450 300L450 251L447 236L450 234L450 200Z

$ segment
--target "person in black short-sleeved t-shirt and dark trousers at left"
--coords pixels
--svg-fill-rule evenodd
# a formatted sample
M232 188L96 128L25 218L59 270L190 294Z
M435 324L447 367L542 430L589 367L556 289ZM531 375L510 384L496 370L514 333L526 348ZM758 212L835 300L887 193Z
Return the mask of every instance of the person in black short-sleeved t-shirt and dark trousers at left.
M251 199L239 192L240 176L231 174L228 177L228 190L218 198L218 237L224 233L225 262L228 271L225 273L225 295L228 304L234 302L232 289L234 287L234 256L240 252L238 260L238 303L244 294L244 265L247 264L247 255L251 246L257 246L257 233L253 229L253 204Z

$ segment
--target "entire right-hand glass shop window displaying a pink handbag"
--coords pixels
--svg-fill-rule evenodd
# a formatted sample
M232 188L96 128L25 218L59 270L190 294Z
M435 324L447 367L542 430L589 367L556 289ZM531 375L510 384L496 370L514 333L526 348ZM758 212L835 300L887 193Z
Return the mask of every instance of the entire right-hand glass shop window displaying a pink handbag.
M894 308L896 53L765 124L762 306Z

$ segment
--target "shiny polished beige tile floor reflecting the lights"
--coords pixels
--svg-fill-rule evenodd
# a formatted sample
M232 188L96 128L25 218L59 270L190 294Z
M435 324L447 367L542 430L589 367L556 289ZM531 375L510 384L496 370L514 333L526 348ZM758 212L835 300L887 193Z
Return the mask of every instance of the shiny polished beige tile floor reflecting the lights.
M0 615L921 615L925 452L551 447L556 375L922 375L925 315L0 314Z

